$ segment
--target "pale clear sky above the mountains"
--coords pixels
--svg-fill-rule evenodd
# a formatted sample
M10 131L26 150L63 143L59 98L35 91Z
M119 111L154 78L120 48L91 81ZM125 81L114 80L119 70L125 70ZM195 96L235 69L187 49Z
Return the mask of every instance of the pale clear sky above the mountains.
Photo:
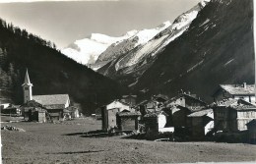
M0 18L53 41L61 49L91 33L120 36L132 29L173 22L200 1L0 0Z

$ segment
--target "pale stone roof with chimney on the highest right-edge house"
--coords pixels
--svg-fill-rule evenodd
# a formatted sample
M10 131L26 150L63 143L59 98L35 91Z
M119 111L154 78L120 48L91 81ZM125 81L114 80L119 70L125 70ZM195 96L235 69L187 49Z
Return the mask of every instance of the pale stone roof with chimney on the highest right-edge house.
M246 84L243 85L238 84L220 84L221 88L223 88L226 92L231 95L254 95L254 84Z

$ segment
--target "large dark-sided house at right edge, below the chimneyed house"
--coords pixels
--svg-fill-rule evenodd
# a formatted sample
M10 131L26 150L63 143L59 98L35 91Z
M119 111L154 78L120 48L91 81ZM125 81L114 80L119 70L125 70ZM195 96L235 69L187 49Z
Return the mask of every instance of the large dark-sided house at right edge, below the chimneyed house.
M244 99L224 99L213 109L216 131L225 133L245 131L246 124L256 119L256 106Z

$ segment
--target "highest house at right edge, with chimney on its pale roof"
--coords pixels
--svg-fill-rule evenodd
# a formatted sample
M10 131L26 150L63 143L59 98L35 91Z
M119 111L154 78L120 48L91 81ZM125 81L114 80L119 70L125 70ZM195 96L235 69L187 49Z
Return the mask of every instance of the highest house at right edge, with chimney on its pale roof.
M254 84L220 84L214 94L214 101L222 101L227 98L244 99L248 102L255 102Z

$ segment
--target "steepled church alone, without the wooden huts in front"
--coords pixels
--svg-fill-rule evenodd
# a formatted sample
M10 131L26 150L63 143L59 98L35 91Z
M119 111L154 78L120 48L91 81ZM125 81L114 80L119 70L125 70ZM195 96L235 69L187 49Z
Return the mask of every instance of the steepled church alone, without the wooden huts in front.
M70 106L68 94L32 95L32 82L30 81L28 70L22 86L24 104L34 100L47 110L51 120L60 120L63 118L63 110Z

